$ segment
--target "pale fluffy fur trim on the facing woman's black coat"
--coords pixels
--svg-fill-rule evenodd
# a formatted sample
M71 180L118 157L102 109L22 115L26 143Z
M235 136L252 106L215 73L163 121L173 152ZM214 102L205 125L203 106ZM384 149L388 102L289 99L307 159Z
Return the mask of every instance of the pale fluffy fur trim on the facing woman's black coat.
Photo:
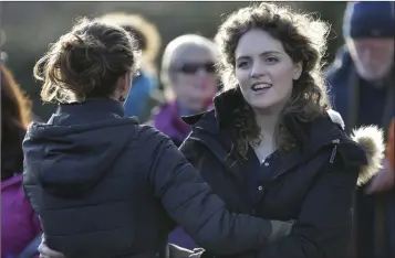
M351 139L361 146L367 158L367 164L360 171L357 185L367 183L382 169L385 144L383 130L376 126L367 126L354 129Z

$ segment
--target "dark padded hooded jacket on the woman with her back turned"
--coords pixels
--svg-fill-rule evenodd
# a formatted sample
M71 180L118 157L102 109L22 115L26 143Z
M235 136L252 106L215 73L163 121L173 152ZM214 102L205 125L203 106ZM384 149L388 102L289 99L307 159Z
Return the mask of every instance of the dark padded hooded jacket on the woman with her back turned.
M165 257L175 222L222 255L259 248L272 229L229 213L170 140L117 101L61 106L30 126L23 151L27 195L67 258Z

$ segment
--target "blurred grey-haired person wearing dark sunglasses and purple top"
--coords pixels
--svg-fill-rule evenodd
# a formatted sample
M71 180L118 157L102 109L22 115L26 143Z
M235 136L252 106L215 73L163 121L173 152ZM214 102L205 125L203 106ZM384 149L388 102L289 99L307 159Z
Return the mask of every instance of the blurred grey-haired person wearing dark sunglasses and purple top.
M160 79L166 103L153 110L153 125L180 146L190 132L181 116L207 110L218 92L217 47L196 34L174 39L164 51ZM132 90L133 92L133 90Z

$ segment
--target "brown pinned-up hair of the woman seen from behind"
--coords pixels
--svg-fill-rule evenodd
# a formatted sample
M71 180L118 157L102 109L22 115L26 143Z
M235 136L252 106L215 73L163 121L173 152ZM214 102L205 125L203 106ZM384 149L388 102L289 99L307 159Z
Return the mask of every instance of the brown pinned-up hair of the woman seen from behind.
M34 66L48 103L108 97L117 79L136 72L135 40L118 25L82 18Z

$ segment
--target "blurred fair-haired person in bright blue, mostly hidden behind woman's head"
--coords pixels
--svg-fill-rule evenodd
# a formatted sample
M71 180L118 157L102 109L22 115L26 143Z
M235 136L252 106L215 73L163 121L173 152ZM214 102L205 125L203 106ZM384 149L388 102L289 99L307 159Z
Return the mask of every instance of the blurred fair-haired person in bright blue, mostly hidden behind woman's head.
M137 41L141 51L139 73L133 79L133 89L125 103L126 116L136 116L141 121L149 118L152 99L158 93L157 57L162 39L157 28L141 14L122 12L107 13L100 18L103 22L118 24Z

